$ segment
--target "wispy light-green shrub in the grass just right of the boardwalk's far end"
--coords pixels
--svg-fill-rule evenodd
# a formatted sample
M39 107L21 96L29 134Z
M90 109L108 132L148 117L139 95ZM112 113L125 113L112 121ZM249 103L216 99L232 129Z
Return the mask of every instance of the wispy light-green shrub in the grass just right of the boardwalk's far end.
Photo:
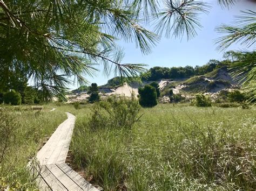
M93 108L89 121L90 129L102 128L128 128L138 121L140 110L139 102L134 94L130 98L123 96L110 96Z

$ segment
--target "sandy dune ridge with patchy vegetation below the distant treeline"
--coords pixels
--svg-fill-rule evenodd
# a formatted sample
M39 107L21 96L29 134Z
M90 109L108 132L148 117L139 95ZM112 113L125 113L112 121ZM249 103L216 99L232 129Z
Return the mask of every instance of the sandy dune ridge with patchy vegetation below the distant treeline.
M151 82L152 81L125 82L123 85L116 87L107 87L107 84L105 84L99 87L99 91L100 95L103 97L114 94L131 96L132 92L138 95L138 88ZM228 74L227 67L217 68L205 75L193 76L189 79L161 79L156 82L159 84L160 91L163 95L165 95L165 93L167 95L170 89L173 90L174 94L193 95L196 93L215 94L221 90L238 88L237 82ZM86 90L73 92L68 96L69 102L84 101L87 100L87 97L89 97L89 95L86 93Z

